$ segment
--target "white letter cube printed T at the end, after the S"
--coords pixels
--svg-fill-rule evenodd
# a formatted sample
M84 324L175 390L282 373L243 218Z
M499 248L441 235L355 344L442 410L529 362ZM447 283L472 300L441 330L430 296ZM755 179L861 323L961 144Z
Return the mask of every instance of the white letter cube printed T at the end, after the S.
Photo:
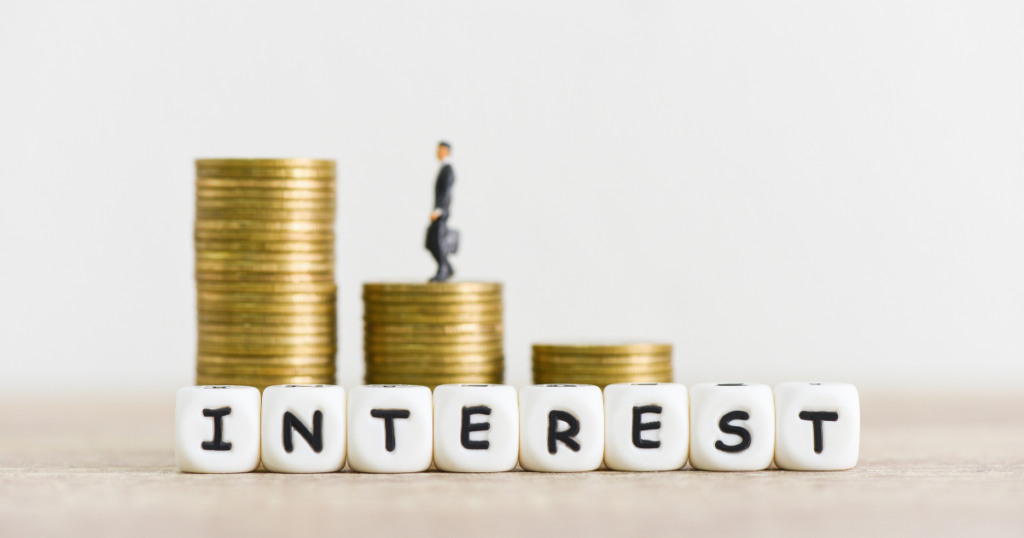
M849 383L775 385L775 464L842 470L860 453L860 397Z

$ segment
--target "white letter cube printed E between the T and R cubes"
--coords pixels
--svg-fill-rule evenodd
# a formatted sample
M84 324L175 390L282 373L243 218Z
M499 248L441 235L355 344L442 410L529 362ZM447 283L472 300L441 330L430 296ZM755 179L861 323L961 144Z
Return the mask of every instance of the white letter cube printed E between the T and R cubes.
M434 465L454 472L512 470L519 460L519 401L501 384L434 388Z

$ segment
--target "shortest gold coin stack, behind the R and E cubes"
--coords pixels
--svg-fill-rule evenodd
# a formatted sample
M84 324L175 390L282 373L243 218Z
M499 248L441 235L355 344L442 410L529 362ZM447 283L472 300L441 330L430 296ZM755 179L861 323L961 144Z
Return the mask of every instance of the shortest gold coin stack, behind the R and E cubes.
M672 344L534 344L534 382L671 382Z

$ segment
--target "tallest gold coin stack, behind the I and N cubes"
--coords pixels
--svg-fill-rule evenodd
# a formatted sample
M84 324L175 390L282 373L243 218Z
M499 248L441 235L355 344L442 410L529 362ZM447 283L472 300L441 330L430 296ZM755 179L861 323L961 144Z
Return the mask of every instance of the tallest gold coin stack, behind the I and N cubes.
M334 161L196 161L197 384L333 383Z

